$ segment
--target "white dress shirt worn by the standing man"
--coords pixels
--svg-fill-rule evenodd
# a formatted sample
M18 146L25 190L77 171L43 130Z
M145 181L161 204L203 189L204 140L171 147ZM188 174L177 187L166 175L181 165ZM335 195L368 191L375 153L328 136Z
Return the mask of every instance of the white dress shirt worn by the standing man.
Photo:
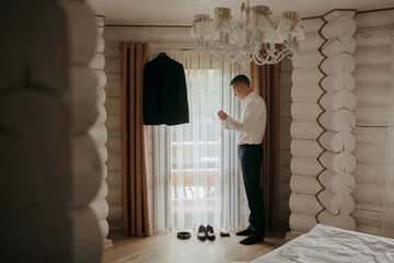
M241 122L229 116L223 122L224 128L239 132L239 145L259 145L263 141L267 123L266 104L255 91L251 92L242 102L244 111Z

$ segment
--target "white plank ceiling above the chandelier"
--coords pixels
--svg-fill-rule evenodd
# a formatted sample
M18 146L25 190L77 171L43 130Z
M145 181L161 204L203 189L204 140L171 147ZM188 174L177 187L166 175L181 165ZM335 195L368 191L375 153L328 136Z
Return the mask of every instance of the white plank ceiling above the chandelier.
M105 16L107 25L190 25L194 14L213 9L232 9L235 20L246 0L88 0L96 14ZM283 11L298 11L301 18L322 15L333 9L373 10L394 8L394 0L251 0L251 5L268 5L273 18Z

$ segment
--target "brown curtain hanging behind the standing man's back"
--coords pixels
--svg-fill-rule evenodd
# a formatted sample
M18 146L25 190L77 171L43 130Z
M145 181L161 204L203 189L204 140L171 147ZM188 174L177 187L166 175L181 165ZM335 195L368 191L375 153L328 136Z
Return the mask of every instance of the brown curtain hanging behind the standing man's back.
M262 50L264 53L264 50ZM263 140L262 187L266 208L266 229L278 229L279 213L279 136L280 64L251 64L251 81L267 106L267 126Z

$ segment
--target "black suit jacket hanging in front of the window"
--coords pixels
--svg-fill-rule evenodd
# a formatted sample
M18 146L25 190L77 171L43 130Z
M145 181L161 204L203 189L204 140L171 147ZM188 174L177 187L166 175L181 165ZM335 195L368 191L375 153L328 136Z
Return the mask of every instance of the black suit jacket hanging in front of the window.
M143 67L143 124L189 122L187 88L182 64L159 55Z

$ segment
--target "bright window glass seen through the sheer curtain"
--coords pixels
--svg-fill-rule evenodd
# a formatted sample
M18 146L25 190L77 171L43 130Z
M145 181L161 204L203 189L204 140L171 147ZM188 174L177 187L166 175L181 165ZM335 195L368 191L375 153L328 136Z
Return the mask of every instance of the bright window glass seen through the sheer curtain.
M221 70L185 70L190 123L171 128L172 213L220 210ZM219 205L218 205L219 204Z

